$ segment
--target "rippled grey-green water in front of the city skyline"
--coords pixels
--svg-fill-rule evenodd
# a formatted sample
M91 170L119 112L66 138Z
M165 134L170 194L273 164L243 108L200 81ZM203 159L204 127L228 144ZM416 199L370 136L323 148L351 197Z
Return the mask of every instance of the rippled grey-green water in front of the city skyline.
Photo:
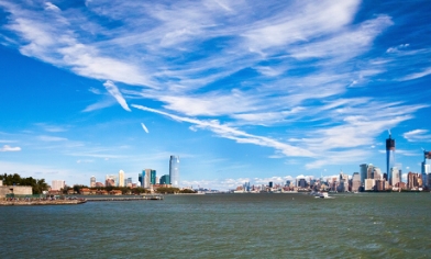
M430 258L430 193L0 207L1 258Z

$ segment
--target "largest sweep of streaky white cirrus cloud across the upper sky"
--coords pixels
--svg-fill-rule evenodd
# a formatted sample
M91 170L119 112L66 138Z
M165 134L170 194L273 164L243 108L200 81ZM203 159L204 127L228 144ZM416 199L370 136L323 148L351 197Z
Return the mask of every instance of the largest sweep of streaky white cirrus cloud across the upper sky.
M104 81L125 111L126 100L151 100L154 109L135 108L272 147L273 157L325 151L307 168L355 161L379 133L428 109L393 100L416 98L402 83L430 75L430 49L379 41L397 16L357 15L358 0L55 3L40 12L38 3L0 2L13 37L2 42ZM101 99L84 111L112 104Z

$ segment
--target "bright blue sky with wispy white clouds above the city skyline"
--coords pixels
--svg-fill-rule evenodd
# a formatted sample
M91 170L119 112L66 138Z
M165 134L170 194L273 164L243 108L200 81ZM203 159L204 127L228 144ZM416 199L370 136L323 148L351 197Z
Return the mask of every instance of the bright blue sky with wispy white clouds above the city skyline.
M228 190L431 149L431 4L0 0L0 170Z

